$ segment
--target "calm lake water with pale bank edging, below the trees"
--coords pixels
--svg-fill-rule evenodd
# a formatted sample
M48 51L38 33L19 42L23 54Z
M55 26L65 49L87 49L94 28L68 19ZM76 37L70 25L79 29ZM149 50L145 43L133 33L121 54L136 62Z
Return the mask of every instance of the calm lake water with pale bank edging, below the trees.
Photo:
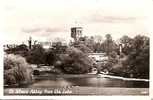
M120 88L149 88L149 80L124 78L103 74L44 74L32 76L32 83L25 85L4 86L4 88L35 88L35 87L120 87Z

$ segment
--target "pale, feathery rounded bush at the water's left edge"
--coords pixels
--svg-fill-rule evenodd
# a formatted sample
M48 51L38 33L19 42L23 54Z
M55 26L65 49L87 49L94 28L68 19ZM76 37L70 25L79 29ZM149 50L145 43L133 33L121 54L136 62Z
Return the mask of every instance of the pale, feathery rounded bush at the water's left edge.
M31 82L31 70L26 60L18 55L4 56L4 84L28 84Z

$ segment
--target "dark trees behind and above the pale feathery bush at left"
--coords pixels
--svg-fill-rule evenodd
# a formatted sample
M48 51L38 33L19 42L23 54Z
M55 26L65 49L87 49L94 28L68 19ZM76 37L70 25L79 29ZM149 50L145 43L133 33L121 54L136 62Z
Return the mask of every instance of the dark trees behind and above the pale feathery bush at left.
M57 48L58 49L58 48ZM24 44L21 44L15 48L9 48L6 50L8 54L15 54L25 57L27 62L30 64L46 64L53 65L55 60L55 50L45 50L41 45L35 44L29 50Z

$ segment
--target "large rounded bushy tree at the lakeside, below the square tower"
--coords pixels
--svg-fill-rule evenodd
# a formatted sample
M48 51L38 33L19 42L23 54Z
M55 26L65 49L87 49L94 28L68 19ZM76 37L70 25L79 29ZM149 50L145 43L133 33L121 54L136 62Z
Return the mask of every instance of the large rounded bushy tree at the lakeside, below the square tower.
M81 74L90 72L93 62L81 50L71 47L68 48L67 54L60 56L61 69L66 73Z

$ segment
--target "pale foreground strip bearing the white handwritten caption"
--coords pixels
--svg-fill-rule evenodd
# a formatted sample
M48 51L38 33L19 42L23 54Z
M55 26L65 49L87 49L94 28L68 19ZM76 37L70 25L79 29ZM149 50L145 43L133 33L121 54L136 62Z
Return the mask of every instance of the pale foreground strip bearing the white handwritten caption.
M7 88L4 95L149 95L149 88L54 87Z

